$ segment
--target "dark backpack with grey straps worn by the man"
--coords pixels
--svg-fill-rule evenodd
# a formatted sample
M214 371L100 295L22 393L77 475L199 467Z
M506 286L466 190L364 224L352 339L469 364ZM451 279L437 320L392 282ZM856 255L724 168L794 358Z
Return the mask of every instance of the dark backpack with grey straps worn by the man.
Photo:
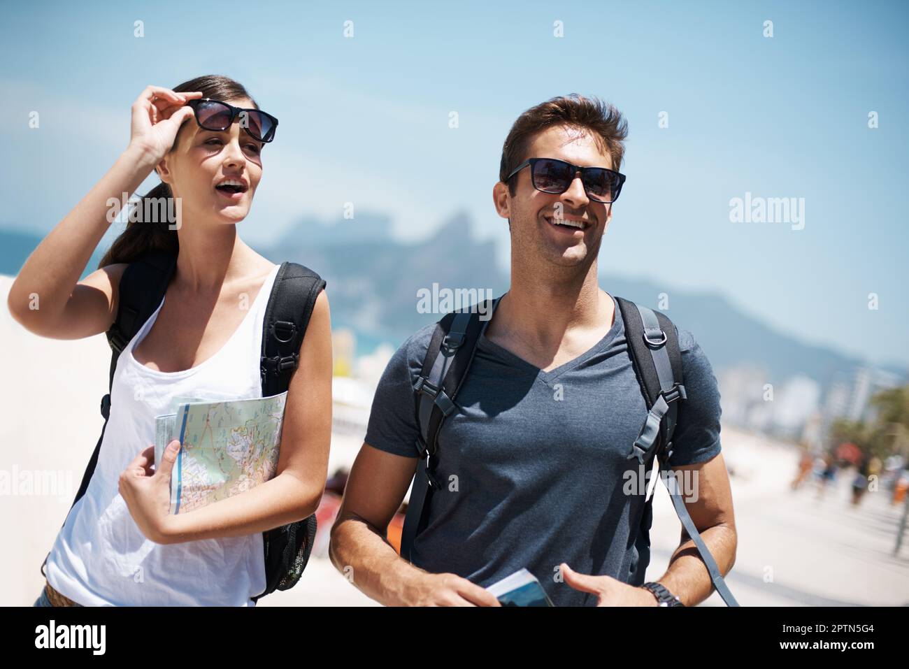
M401 534L401 556L411 560L411 549L417 534L425 529L428 522L427 510L433 493L441 489L435 476L438 464L439 430L445 418L457 408L454 399L464 384L464 379L474 361L476 343L484 329L480 313L490 318L498 305L497 298L445 315L435 326L435 333L429 342L423 370L414 386L415 412L420 425L417 439L419 460L416 466L410 502L407 504L404 529ZM628 459L636 459L649 472L656 458L660 478L672 497L675 513L684 525L685 531L694 540L701 558L717 592L729 606L738 606L733 594L726 586L723 575L714 561L714 556L704 544L701 534L685 509L682 495L675 491L675 479L668 472L668 460L672 455L672 437L678 415L678 404L686 398L682 384L682 355L679 351L678 331L665 315L645 306L616 297L624 319L625 336L628 340L628 354L634 374L641 385L648 413L641 433L628 452ZM486 322L488 322L487 319ZM654 488L655 492L655 488ZM628 583L644 583L644 571L650 562L650 527L653 524L653 494L644 504L644 511L638 522L638 534L634 546L638 559L632 565Z

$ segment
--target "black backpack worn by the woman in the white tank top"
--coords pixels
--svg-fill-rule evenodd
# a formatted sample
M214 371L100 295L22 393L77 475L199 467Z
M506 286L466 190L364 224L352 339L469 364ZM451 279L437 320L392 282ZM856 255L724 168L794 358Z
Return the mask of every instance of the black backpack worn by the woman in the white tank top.
M117 358L161 304L175 268L176 255L153 252L139 258L124 270L120 279L116 320L107 331L107 341L112 351L109 381L111 387L114 384ZM323 288L325 280L303 265L282 263L278 268L275 285L265 308L263 325L261 360L263 397L284 393L287 390L290 377L299 361L300 345L303 344L315 299ZM101 398L101 415L105 417L105 428L110 408L111 396L108 392ZM104 436L105 429L102 428L95 452L85 468L82 484L75 494L73 506L88 488ZM262 533L265 544L265 591L253 597L254 602L275 590L289 590L294 587L309 561L309 554L315 541L315 530L313 514L304 520ZM41 565L41 574L46 577L45 564L46 557Z

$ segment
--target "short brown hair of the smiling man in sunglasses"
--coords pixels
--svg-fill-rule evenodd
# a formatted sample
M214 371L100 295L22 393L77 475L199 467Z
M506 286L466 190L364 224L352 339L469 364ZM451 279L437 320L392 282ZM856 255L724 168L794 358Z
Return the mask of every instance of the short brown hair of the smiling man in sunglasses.
M502 146L499 181L504 182L515 167L530 157L526 154L534 136L554 125L587 130L594 137L600 152L612 157L613 169L621 171L624 155L622 143L628 136L627 121L613 105L596 97L573 93L553 97L517 117ZM508 193L514 195L514 181L508 184Z

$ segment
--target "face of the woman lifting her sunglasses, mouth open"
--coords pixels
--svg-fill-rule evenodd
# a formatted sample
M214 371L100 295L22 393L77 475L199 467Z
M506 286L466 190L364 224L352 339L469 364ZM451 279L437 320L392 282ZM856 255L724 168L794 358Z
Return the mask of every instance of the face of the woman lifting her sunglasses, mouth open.
M248 98L224 102L253 108ZM263 146L240 127L239 116L221 132L204 130L192 118L180 128L174 150L165 155L158 171L174 196L181 198L183 216L238 223L249 214L262 178ZM225 181L240 185L219 188Z

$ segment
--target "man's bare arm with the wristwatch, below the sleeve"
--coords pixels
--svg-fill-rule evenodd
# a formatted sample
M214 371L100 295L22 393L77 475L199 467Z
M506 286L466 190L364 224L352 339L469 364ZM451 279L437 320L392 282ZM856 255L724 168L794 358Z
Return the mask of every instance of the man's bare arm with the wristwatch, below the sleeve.
M705 463L673 467L673 471L680 473L677 480L685 508L704 539L704 544L713 554L720 573L725 576L735 564L738 536L735 532L733 497L723 454L718 454ZM685 472L690 474L684 474ZM662 482L657 484L663 485ZM696 501L689 501L695 495ZM658 582L678 596L685 606L700 604L714 591L707 566L684 527L680 544L669 561L666 573Z

